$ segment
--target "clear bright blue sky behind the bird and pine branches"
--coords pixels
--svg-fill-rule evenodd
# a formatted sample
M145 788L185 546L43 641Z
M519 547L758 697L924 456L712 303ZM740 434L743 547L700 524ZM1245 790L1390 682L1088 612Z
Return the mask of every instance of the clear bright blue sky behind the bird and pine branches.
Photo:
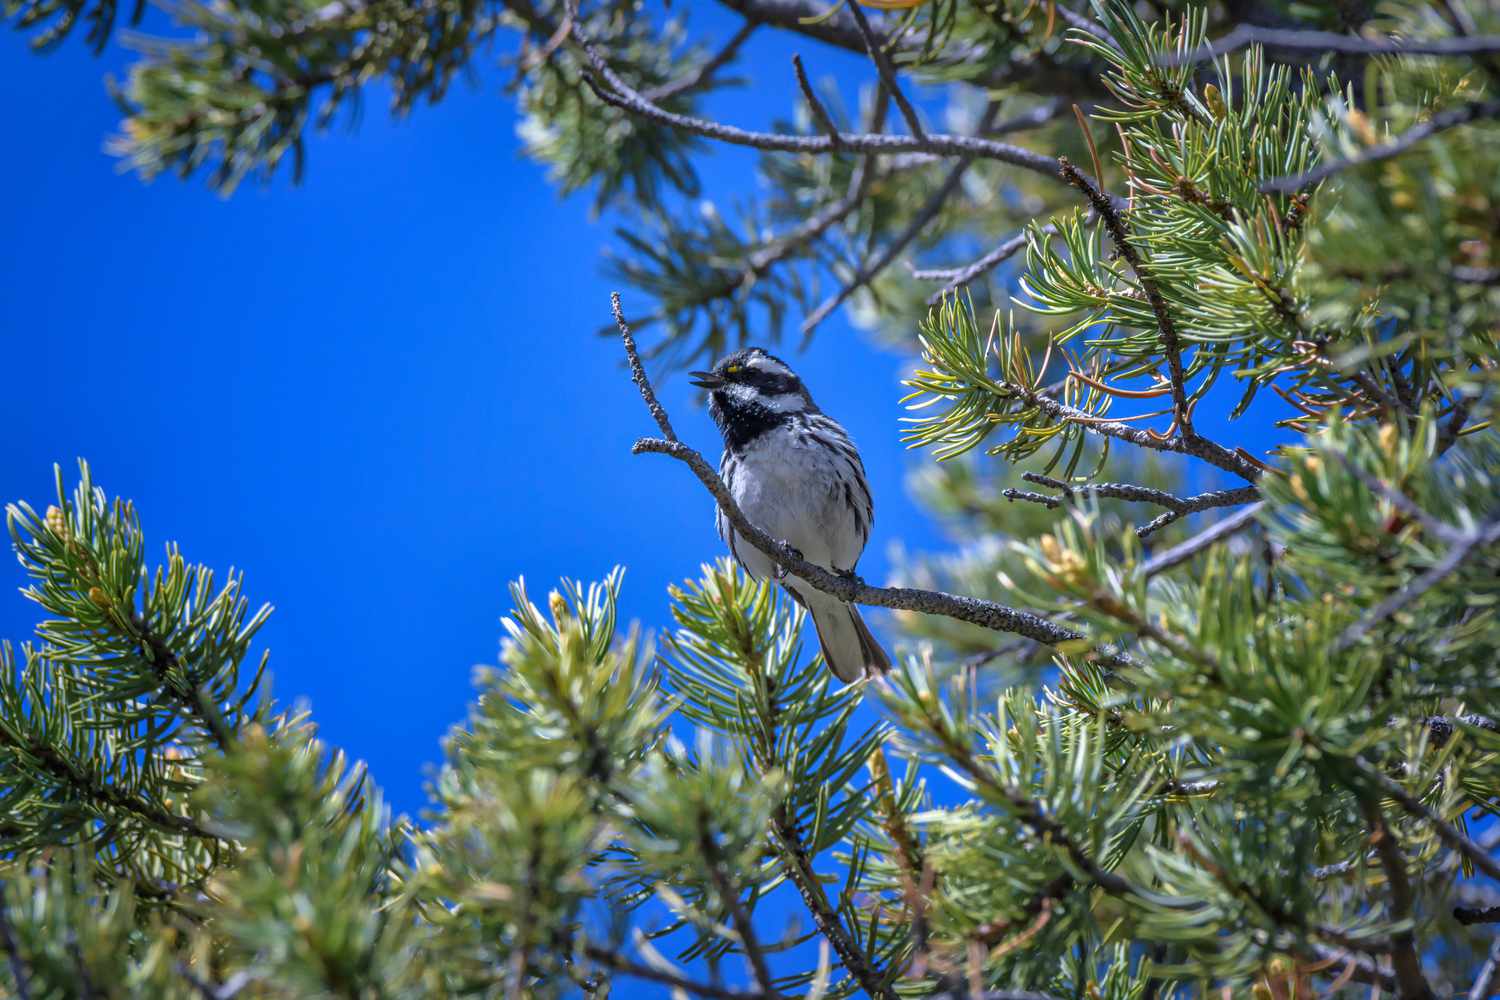
M792 106L792 46L764 34L756 90L716 111ZM870 75L804 48L822 72ZM370 94L357 132L312 139L302 186L146 184L104 151L104 76L126 64L118 45L33 55L0 34L0 501L45 505L52 463L72 475L81 456L136 502L150 553L176 540L244 570L276 606L278 697L308 699L414 813L471 667L496 658L507 580L544 597L622 564L626 618L657 628L666 585L722 552L696 480L630 456L652 426L618 342L596 336L612 220L519 156L501 72L402 121ZM750 159L712 156L704 184L752 195ZM836 318L795 363L864 451L878 514L861 570L884 579L891 540L939 544L903 487L903 360ZM680 433L717 454L692 393L663 385ZM0 636L22 640L36 613L4 567Z

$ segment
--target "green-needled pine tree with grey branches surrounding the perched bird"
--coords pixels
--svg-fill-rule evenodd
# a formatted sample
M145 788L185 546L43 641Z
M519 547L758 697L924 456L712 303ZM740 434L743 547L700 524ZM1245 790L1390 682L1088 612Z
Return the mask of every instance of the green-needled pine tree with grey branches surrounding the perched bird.
M58 474L8 508L44 621L0 646L0 984L1494 996L1500 9L723 1L714 46L682 4L188 0L116 148L224 190L300 171L372 82L405 112L502 39L528 153L639 213L636 450L892 609L902 667L838 687L728 561L654 640L620 573L516 583L430 814L392 820L267 693L242 579L153 562L128 501ZM39 45L141 16L3 9ZM846 108L798 58L772 130L702 117L760 31L864 52L870 85ZM682 198L726 142L766 181L734 220ZM744 520L646 373L844 306L916 355L904 433L960 540L908 586ZM1200 429L1226 415L1284 444Z

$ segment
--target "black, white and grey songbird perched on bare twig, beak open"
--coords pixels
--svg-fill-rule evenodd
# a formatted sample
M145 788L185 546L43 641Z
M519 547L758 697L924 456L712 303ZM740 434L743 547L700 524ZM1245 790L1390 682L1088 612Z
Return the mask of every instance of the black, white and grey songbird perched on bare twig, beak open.
M724 435L718 475L744 516L808 562L852 573L870 538L874 504L860 451L838 421L818 409L786 361L760 348L735 351L711 372L692 375L693 385L708 390L708 412ZM723 511L716 520L750 576L780 576L774 559L736 537ZM848 684L891 669L860 609L795 576L783 583L812 616L834 676Z

